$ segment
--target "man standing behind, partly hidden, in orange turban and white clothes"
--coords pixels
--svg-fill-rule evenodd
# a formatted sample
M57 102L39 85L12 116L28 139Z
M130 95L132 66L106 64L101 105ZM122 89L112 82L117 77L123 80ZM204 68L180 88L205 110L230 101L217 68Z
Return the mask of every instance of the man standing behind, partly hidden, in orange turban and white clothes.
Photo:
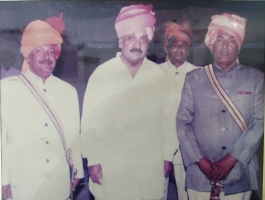
M178 106L181 99L181 91L186 77L186 73L196 67L186 61L189 56L192 32L183 18L182 21L176 23L169 21L165 23L165 39L164 49L167 53L167 61L160 66L167 72L170 81L170 96L174 103L171 108L172 120L176 121ZM176 134L176 132L174 132ZM176 134L176 140L177 134ZM180 149L177 150L174 160L174 174L178 192L178 199L187 200L187 192L185 188L185 169L183 166ZM167 191L165 192L167 194ZM165 200L167 195L165 195Z

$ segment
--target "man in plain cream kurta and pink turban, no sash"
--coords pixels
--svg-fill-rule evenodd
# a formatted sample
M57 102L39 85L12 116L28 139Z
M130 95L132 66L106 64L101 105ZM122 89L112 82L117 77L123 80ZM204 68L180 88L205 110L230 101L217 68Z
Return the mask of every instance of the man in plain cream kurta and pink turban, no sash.
M121 53L88 81L81 148L96 200L163 198L178 144L166 74L145 57L155 22L152 5L122 8L115 23Z

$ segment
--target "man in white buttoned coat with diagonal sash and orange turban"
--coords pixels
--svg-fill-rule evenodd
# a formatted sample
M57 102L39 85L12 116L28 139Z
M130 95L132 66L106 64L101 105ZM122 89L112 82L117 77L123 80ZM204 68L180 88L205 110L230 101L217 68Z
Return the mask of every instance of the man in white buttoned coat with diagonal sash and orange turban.
M21 40L23 75L1 81L3 199L65 200L83 177L76 90L52 75L61 43L48 23L29 23ZM77 169L72 184L68 158Z

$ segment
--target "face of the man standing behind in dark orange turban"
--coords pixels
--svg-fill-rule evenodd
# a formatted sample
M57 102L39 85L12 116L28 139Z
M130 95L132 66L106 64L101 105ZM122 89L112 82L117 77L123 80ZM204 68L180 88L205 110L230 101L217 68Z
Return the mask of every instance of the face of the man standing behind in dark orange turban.
M188 43L179 37L171 38L172 43L165 48L166 53L168 54L170 62L178 67L182 65L189 56L189 45Z

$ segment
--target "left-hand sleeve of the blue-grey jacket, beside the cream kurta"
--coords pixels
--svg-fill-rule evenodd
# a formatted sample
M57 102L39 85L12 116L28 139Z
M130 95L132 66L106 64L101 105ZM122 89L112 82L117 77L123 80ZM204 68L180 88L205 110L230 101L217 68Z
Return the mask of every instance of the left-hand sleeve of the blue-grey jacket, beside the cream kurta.
M194 97L186 76L181 102L177 112L177 135L179 138L180 148L185 166L197 162L203 157L203 154L197 144L196 137L193 132L193 116L194 116Z

